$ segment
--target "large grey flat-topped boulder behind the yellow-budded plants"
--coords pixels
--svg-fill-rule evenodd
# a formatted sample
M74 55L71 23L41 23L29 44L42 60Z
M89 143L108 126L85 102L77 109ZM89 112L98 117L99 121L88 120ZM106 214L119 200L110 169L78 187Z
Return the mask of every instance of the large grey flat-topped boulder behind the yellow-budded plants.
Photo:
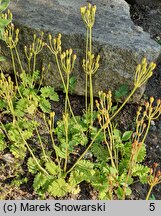
M53 36L62 33L63 48L71 47L78 57L73 71L77 79L74 93L84 95L85 74L82 59L85 55L86 29L81 19L80 7L87 5L87 2L97 5L93 50L101 56L100 68L93 77L94 95L97 96L99 90L115 91L123 84L132 89L136 65L144 56L149 61L156 61L161 47L141 27L134 25L130 18L129 5L124 0L11 1L13 22L20 28L20 47L30 43L35 32L43 31L45 36L48 33ZM45 74L44 84L59 90L61 79L54 57L48 49L44 49L38 68L49 62L52 70ZM134 102L141 98L144 90L145 86L137 91Z

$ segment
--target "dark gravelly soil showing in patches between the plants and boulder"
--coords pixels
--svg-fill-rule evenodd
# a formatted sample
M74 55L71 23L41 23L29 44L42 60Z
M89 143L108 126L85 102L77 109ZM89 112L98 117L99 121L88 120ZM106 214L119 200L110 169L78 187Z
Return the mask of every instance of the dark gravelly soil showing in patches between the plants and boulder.
M135 1L127 0L130 3L130 13L133 22L143 28L144 31L149 32L152 39L158 42L158 46L161 44L161 4L141 5L136 4ZM152 1L151 1L152 2ZM63 112L64 95L60 95L60 103L53 104L53 110L57 113L58 118ZM154 98L161 98L161 58L157 62L157 68L154 72L153 77L149 80L144 99L148 99L150 96ZM84 108L84 98L80 96L70 96L71 105L75 114L82 114L82 109ZM131 128L133 122L133 116L136 114L137 109L136 104L128 104L123 109L121 115L119 116L120 127L123 130L128 130ZM150 167L156 162L159 164L161 169L161 117L156 121L152 122L150 127L150 132L146 140L147 157L145 164ZM8 188L6 187L5 199L38 199L37 195L32 189L32 178L27 184L23 184L21 188L18 187ZM94 191L87 183L81 184L81 192L78 195L68 195L62 199L97 199L97 192ZM133 185L133 197L130 199L145 199L148 186L136 183ZM152 194L155 198L161 200L161 184L156 186ZM54 199L53 197L46 197L47 199Z

